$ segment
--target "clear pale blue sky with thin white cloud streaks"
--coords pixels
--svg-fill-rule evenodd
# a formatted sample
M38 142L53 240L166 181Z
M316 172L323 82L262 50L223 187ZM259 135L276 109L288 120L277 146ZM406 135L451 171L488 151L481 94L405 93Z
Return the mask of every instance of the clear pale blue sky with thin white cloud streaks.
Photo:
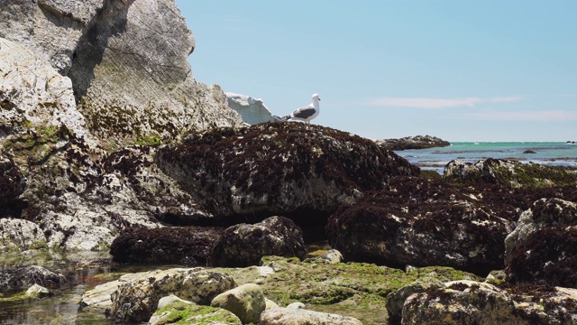
M177 0L195 79L372 139L577 140L575 0Z

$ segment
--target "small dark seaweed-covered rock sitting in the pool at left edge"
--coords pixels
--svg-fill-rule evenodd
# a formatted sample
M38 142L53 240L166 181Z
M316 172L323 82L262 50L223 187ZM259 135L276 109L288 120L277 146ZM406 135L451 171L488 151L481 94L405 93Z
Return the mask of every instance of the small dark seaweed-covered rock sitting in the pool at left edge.
M0 271L0 292L23 291L34 283L48 288L60 288L67 282L64 275L38 265L20 266Z

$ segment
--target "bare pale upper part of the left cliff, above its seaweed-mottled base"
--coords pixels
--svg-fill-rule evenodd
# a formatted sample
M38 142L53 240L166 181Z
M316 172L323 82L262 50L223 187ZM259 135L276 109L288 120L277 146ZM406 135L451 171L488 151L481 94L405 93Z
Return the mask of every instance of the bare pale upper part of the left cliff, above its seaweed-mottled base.
M194 37L172 0L8 0L0 22L0 37L39 58L34 70L43 69L44 62L53 68L40 75L46 78L17 78L31 85L28 93L41 94L45 83L48 89L49 95L38 99L43 107L31 102L36 112L25 117L35 114L43 121L56 112L54 118L77 135L86 121L105 145L160 141L188 129L241 123L220 88L193 79L187 58ZM18 51L11 52L18 57ZM64 77L54 78L56 70ZM50 97L60 93L66 99Z

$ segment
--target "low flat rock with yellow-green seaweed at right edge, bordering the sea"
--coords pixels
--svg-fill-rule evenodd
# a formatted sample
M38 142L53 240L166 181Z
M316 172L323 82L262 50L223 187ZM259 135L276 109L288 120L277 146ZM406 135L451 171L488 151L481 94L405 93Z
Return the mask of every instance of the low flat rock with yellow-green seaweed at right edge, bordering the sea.
M477 163L454 160L444 167L444 179L467 184L488 182L512 187L551 187L577 184L577 169L502 159Z

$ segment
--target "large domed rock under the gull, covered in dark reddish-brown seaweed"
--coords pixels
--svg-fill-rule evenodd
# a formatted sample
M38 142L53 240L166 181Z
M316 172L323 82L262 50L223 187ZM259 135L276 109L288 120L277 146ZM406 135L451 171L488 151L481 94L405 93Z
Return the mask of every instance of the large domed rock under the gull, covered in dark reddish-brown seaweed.
M158 164L217 216L326 218L392 175L419 169L371 140L328 127L265 123L190 135Z

